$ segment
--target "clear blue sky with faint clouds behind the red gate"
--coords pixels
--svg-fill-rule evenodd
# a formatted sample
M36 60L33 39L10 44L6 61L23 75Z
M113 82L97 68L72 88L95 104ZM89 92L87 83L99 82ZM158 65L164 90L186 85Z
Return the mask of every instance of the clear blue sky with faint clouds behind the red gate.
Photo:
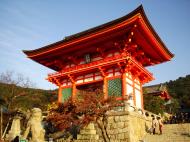
M172 61L149 67L157 84L190 74L189 0L0 0L0 73L22 73L37 88L56 86L54 72L28 58L32 50L124 16L143 5L154 29L175 54Z

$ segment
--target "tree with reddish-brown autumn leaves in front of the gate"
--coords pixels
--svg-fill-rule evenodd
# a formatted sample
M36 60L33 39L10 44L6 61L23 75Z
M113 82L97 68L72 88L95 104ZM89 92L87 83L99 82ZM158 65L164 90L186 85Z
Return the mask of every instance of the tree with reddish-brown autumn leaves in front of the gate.
M106 112L120 105L115 101L115 97L104 100L102 94L83 92L78 94L74 102L69 98L63 104L57 104L57 107L50 110L47 120L59 130L67 130L72 126L82 128L89 122L96 122L102 131L104 141L107 142L109 138L104 126Z

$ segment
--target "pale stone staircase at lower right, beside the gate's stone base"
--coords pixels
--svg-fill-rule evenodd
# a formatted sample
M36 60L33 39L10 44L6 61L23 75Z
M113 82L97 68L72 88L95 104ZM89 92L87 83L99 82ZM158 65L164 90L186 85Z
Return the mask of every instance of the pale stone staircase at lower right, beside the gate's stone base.
M165 124L162 135L146 134L142 142L190 142L190 124Z

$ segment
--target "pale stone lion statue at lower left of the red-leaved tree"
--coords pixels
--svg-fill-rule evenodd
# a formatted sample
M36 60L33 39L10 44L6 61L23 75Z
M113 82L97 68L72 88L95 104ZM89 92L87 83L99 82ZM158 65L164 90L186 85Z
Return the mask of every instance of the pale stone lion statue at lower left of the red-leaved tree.
M32 134L30 142L44 142L45 130L41 124L42 111L39 108L33 108L31 110L31 117L27 123L27 128L24 132L23 138L26 139L29 132Z

